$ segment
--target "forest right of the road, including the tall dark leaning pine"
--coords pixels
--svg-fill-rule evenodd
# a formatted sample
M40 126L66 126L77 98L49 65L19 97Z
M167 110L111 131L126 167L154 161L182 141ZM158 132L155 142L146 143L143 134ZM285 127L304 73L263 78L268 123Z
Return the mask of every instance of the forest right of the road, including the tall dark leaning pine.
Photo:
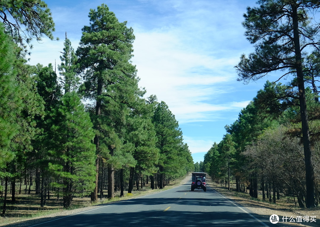
M320 203L319 1L259 1L244 14L255 51L236 72L244 83L267 81L196 168L230 190L299 207ZM281 81L281 82L279 82ZM259 192L259 193L260 193Z

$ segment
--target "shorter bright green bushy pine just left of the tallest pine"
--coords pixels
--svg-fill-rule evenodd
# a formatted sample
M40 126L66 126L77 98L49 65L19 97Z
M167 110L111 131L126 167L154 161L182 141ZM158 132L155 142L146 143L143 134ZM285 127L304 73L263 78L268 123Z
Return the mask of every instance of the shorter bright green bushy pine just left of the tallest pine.
M94 186L95 146L89 113L75 91L63 95L51 127L49 170L59 177L63 207L71 205L75 192Z

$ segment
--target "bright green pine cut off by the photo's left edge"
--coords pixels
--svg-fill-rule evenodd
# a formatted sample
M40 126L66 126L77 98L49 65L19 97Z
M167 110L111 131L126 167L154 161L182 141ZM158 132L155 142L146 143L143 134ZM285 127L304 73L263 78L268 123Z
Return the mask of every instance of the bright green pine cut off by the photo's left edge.
M36 92L32 67L19 56L20 48L4 33L2 24L0 39L0 166L6 167L5 188L12 181L12 201L15 201L17 168L24 168L32 151L31 141L39 132L35 117L43 114L43 102Z

